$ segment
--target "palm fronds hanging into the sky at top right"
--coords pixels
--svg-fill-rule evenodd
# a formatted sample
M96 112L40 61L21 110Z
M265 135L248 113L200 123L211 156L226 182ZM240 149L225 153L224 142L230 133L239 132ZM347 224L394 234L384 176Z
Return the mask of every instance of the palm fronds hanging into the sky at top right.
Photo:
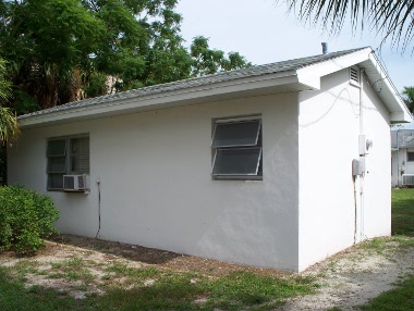
M277 0L278 2L281 0ZM412 0L285 0L289 11L306 22L322 23L331 33L339 33L350 16L355 30L370 23L383 40L401 43L404 50L414 36L414 2ZM299 8L297 8L299 7ZM413 47L414 49L414 47Z

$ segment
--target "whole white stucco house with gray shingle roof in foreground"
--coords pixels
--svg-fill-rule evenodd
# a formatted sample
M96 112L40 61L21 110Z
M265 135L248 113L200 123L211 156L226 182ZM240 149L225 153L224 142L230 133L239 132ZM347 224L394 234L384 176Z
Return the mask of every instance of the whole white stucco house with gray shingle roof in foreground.
M8 178L62 233L297 272L390 234L410 119L370 48L332 52L23 115Z

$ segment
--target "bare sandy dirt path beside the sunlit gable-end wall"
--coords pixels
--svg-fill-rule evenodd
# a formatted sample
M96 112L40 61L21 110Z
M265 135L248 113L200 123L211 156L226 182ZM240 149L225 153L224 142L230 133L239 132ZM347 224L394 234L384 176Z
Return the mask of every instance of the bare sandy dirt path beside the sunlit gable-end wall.
M392 242L389 242L392 244ZM278 310L358 310L395 282L414 273L414 247L388 245L382 252L352 247L309 268L303 275L314 275L321 287L316 295L291 299Z

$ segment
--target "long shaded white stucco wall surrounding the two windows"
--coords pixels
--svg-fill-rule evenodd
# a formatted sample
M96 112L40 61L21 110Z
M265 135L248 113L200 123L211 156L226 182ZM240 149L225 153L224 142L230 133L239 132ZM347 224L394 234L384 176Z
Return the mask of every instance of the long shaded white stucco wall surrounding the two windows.
M211 122L263 115L263 181L212 181ZM89 133L88 195L47 192L48 137ZM9 181L51 195L62 233L297 271L297 94L23 130Z

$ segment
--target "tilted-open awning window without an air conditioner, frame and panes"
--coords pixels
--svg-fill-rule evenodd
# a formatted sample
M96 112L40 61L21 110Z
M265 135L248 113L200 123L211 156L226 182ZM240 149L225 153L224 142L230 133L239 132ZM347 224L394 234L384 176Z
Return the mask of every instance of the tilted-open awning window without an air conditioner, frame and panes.
M217 120L211 149L215 178L261 179L260 119Z

